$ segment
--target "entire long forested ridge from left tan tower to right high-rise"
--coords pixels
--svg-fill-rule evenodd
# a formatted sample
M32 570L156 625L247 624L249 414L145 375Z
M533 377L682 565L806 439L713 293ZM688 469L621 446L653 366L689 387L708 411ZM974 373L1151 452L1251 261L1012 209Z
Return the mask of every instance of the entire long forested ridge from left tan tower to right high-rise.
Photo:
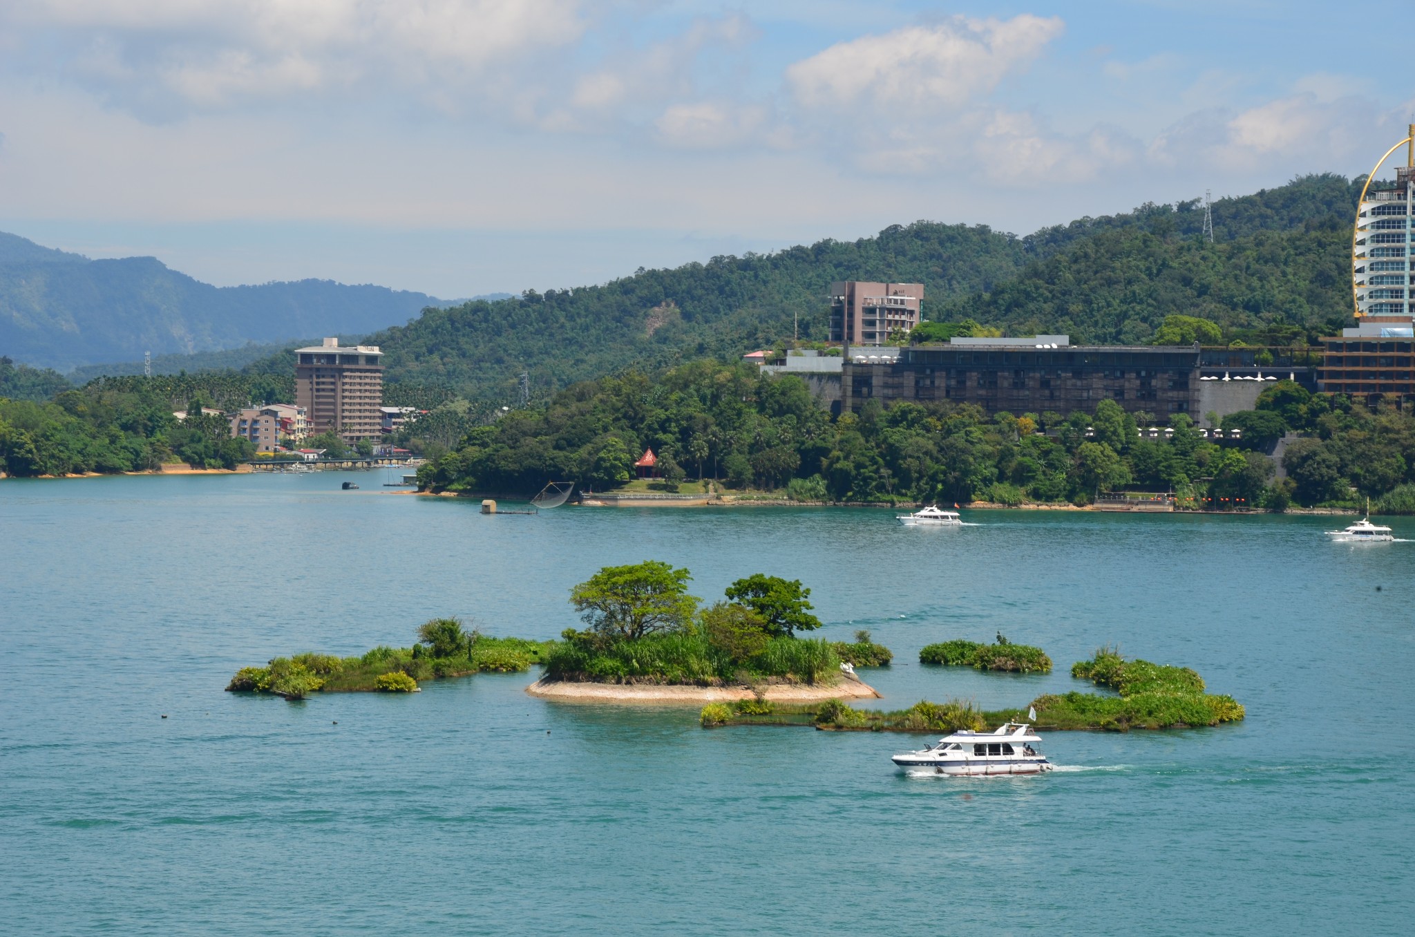
M832 280L924 283L925 317L971 317L1009 334L1143 341L1165 314L1234 327L1322 323L1344 313L1346 242L1358 183L1322 174L1214 202L1142 205L1024 238L916 222L853 242L640 269L604 286L528 292L504 303L429 310L368 341L391 381L507 399L516 375L542 395L627 367L733 358L792 334L822 340Z

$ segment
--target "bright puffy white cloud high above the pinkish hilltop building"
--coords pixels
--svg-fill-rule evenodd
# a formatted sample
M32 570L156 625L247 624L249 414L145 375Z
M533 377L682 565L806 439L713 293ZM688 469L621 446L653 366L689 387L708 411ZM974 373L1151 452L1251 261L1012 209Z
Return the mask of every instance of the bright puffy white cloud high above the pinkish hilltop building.
M1023 71L1061 35L1060 18L952 17L866 35L791 65L787 84L805 108L962 108Z

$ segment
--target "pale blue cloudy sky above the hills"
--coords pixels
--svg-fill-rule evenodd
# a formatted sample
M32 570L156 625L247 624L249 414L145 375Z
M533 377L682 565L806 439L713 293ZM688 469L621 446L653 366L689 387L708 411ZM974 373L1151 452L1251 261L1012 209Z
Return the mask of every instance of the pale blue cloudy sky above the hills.
M1367 171L1415 4L7 0L0 229L229 284L577 286Z

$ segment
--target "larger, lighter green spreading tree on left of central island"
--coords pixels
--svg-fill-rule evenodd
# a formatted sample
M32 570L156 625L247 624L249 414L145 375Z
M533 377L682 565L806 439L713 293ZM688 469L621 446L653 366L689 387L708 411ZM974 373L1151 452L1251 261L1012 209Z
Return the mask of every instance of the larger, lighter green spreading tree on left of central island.
M688 594L692 575L648 559L630 566L604 566L570 589L570 604L590 630L637 640L655 631L682 631L692 623L698 597Z

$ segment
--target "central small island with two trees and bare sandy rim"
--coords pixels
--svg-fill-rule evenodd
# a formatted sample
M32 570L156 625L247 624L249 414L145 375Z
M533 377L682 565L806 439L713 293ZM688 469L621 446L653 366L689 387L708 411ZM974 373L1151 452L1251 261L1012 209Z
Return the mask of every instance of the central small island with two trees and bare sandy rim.
M797 637L821 627L799 580L756 573L700 609L686 569L659 561L606 566L570 590L589 626L566 630L526 692L582 702L702 703L876 698L853 667L893 654L856 633L855 644ZM842 667L846 664L846 667Z

